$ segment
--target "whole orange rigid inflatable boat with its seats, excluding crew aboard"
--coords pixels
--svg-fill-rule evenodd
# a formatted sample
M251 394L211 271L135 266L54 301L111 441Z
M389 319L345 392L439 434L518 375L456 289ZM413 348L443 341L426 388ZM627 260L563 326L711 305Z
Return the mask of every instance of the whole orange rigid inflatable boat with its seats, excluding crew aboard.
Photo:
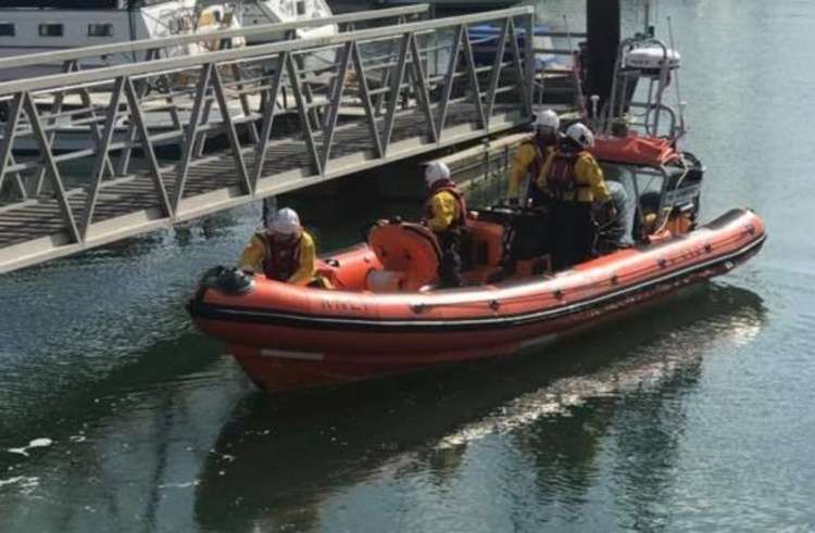
M536 210L485 208L469 213L468 287L437 289L432 233L394 218L321 262L333 290L217 267L189 312L259 386L283 391L539 350L728 272L764 243L747 208L697 225L702 167L690 154L636 136L599 139L594 153L635 191L635 246L553 272Z

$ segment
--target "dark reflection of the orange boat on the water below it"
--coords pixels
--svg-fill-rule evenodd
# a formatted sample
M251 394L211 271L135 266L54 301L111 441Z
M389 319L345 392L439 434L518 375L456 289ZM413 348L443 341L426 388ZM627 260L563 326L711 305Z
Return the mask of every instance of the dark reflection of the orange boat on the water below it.
M388 531L412 520L421 530L441 523L431 521L436 506L449 513L456 503L501 506L497 498L523 509L512 520L524 530L578 518L603 452L630 525L648 525L649 502L669 486L684 398L705 355L750 342L764 318L760 296L712 283L685 292L670 313L642 309L544 356L251 394L205 461L196 520L230 531L302 531L323 520ZM405 503L413 493L423 494L415 508Z

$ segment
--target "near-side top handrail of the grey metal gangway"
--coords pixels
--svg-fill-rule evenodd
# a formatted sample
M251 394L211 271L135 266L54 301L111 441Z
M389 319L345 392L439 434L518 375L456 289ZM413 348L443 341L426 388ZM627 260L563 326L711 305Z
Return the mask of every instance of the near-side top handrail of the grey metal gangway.
M63 88L77 84L87 84L93 81L112 80L122 76L140 76L155 75L180 71L185 68L227 62L241 61L274 55L280 52L291 52L296 50L335 47L344 45L350 41L364 41L384 37L405 35L416 31L432 30L450 26L461 26L473 23L482 23L498 20L505 20L514 16L531 16L535 14L535 8L523 5L505 10L482 11L467 15L449 16L444 18L435 18L431 21L422 21L415 23L401 24L397 26L386 26L381 28L362 29L358 31L348 31L331 36L314 37L310 39L298 39L293 41L272 42L268 45L259 45L253 47L221 50L215 52L205 52L196 55L185 55L180 58L166 58L150 62L131 63L124 65L113 65L90 71L80 71L72 73L53 74L37 78L18 79L13 81L0 83L0 99L11 94L21 94L24 92L34 92L46 89ZM529 47L531 48L531 47Z

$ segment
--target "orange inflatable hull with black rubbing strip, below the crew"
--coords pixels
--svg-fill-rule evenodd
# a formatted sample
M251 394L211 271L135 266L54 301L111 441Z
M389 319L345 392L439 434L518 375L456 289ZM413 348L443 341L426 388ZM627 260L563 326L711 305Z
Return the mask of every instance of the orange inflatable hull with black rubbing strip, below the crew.
M189 312L259 386L285 391L538 350L728 272L764 240L761 218L734 210L690 233L555 276L408 293L326 291L256 277L242 295L202 287ZM328 264L356 276L380 266L365 245Z

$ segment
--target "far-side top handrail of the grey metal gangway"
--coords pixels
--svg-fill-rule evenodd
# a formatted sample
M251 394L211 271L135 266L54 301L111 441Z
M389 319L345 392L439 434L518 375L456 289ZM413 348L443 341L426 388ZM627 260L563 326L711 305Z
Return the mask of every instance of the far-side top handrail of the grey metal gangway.
M198 33L163 37L161 39L140 39L135 41L116 42L113 45L96 45L92 47L72 48L63 51L39 52L32 54L12 55L0 59L0 71L8 68L28 67L33 65L53 64L59 62L71 62L87 58L99 58L122 53L141 52L167 47L177 47L201 41L213 41L231 39L236 37L252 37L267 33L288 31L298 28L326 26L330 24L347 24L390 18L396 16L417 15L429 13L429 4L418 3L402 8L390 8L383 10L358 11L323 18L309 18L304 21L291 21L284 23L263 24L259 26L247 26L238 29L224 29L220 31Z

